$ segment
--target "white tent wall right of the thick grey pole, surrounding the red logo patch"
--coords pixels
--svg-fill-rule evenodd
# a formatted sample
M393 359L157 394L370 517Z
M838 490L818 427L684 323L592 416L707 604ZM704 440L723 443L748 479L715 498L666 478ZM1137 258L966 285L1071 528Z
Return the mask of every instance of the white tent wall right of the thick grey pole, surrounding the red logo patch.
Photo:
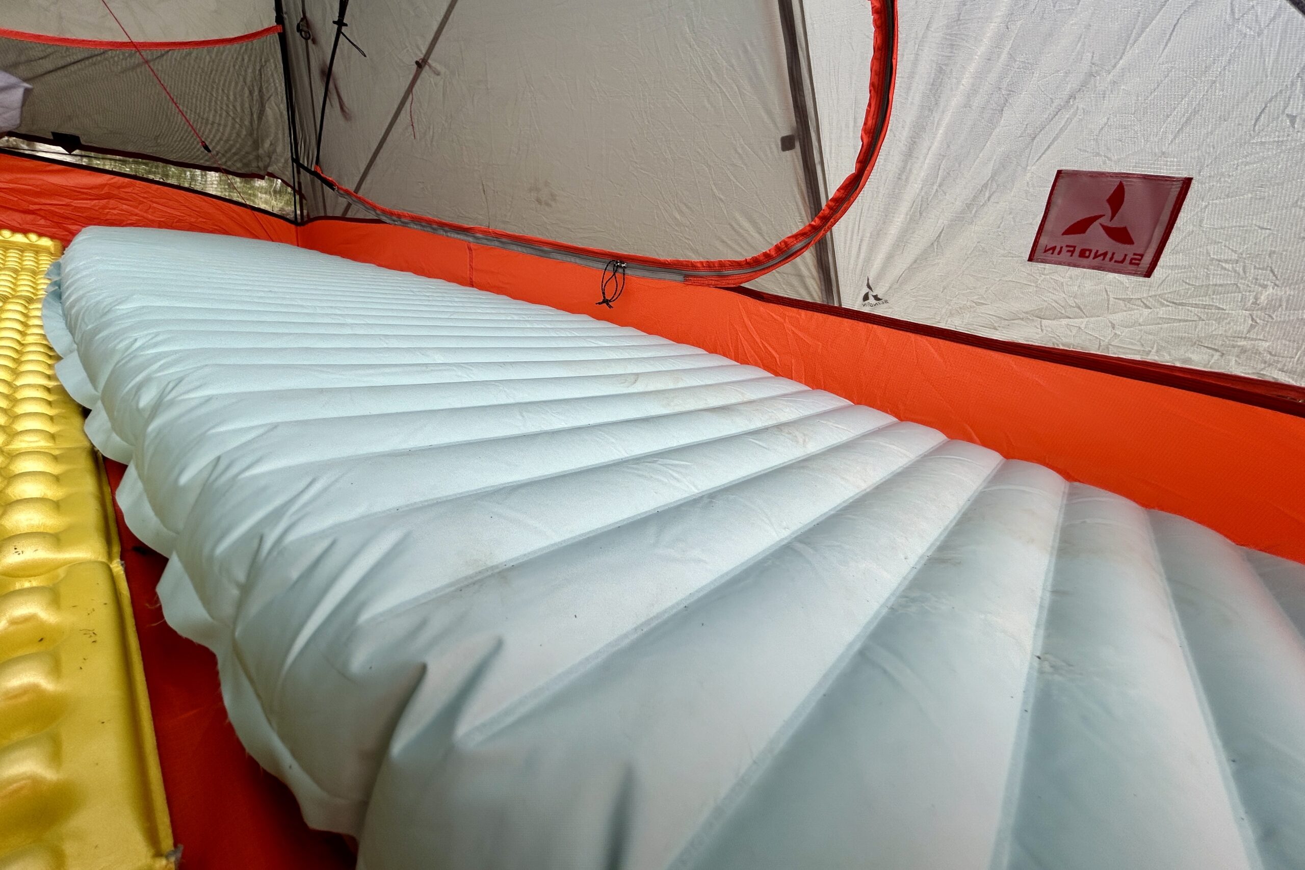
M806 0L830 177L869 25ZM889 134L834 228L844 301L1305 383L1305 16L1287 0L903 3ZM1193 176L1151 278L1027 262L1057 170Z

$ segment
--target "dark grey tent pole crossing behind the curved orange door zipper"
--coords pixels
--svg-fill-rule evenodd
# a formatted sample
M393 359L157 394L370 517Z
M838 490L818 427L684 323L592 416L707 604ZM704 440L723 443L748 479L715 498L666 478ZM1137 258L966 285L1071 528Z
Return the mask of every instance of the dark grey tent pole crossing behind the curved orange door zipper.
M806 43L806 14L801 0L779 0L779 26L784 34L784 59L788 65L788 91L793 100L793 119L797 123L797 147L803 159L803 181L806 202L814 218L829 198L825 189L825 163L820 153L820 124L816 119L816 89L810 77L810 51ZM842 305L838 286L838 261L829 233L813 245L816 273L820 279L821 301Z

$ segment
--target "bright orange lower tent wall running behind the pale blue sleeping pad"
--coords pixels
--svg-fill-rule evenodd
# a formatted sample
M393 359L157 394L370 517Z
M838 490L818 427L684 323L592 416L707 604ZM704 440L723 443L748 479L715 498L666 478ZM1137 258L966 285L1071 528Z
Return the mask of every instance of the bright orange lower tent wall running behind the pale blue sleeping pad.
M586 266L382 223L295 227L214 197L0 155L0 226L68 241L91 224L271 239L633 326L1305 562L1305 417L714 287L630 277L608 309Z

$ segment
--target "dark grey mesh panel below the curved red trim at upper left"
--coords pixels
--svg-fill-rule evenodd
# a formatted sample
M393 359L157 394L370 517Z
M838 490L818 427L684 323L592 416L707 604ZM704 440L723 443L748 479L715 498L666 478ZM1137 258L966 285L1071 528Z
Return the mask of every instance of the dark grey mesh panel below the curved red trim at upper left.
M290 177L279 52L274 35L145 52L211 155L134 51L0 39L0 69L33 86L18 133L73 133L93 149Z

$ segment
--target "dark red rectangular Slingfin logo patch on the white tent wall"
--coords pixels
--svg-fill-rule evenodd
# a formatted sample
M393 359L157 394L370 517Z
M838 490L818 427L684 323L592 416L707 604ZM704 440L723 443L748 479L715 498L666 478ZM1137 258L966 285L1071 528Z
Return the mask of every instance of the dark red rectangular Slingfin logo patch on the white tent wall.
M1190 185L1190 177L1061 170L1028 260L1150 278Z

